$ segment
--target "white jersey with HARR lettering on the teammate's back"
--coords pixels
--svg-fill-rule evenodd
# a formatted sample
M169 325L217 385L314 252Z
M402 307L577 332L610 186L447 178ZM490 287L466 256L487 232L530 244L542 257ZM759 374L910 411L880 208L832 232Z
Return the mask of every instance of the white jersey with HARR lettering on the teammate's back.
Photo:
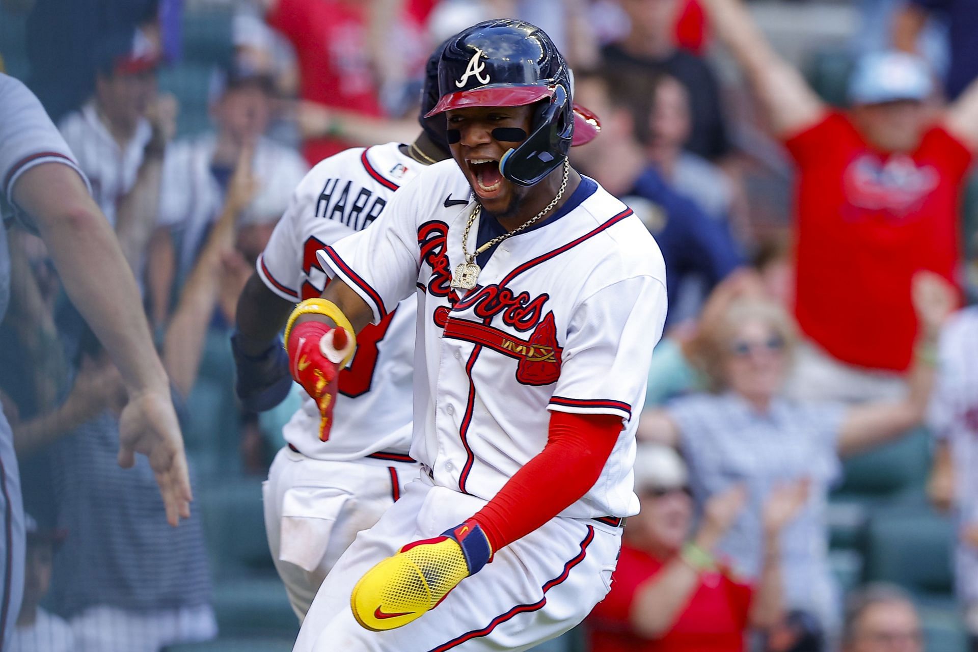
M295 189L258 257L262 281L289 301L319 296L327 276L316 252L376 220L394 192L422 167L398 143L354 148L320 161ZM320 416L312 399L286 424L286 441L303 455L409 459L418 302L412 296L390 305L389 314L357 336L356 354L340 372L329 439L319 439Z

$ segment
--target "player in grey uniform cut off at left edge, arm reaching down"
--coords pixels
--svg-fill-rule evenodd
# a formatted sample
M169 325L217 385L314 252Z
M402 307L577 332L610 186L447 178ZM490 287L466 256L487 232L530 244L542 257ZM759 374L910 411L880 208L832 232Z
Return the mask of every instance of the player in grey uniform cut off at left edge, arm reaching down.
M0 194L36 226L74 305L110 352L128 389L119 463L150 458L166 516L190 515L190 480L169 381L156 356L139 290L106 217L89 195L65 140L18 80L0 74ZM0 318L10 259L0 229ZM10 424L0 410L0 648L17 620L23 589L21 483Z

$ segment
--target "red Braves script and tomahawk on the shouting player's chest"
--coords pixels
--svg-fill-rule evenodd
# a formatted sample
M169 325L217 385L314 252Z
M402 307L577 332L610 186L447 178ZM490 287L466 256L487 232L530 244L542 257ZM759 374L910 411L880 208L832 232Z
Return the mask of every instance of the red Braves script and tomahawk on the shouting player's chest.
M445 337L480 344L515 359L516 380L526 385L548 385L560 375L562 349L557 345L554 313L544 316L544 306L550 295L544 292L531 297L526 291L514 293L497 283L476 287L459 297L452 289L451 265L446 253L448 225L444 222L425 222L418 230L422 261L431 267L427 291L433 296L448 297L448 306L434 311L434 322L444 328ZM452 310L471 308L481 322L449 319ZM518 332L532 330L528 339L490 326L494 317Z

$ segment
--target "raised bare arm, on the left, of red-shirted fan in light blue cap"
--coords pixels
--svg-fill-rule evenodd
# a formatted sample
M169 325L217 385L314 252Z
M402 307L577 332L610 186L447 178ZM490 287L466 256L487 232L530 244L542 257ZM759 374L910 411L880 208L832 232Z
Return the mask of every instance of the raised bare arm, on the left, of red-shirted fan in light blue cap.
M786 138L818 122L825 111L822 100L778 56L741 0L704 0L703 5L767 110L775 135Z

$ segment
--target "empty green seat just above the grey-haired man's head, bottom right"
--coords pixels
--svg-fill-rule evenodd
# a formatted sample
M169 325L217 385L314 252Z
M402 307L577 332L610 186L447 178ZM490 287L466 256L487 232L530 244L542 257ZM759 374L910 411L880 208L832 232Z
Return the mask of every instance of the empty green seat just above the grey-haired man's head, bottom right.
M949 596L953 537L951 520L928 506L880 507L867 526L866 579L922 596Z

